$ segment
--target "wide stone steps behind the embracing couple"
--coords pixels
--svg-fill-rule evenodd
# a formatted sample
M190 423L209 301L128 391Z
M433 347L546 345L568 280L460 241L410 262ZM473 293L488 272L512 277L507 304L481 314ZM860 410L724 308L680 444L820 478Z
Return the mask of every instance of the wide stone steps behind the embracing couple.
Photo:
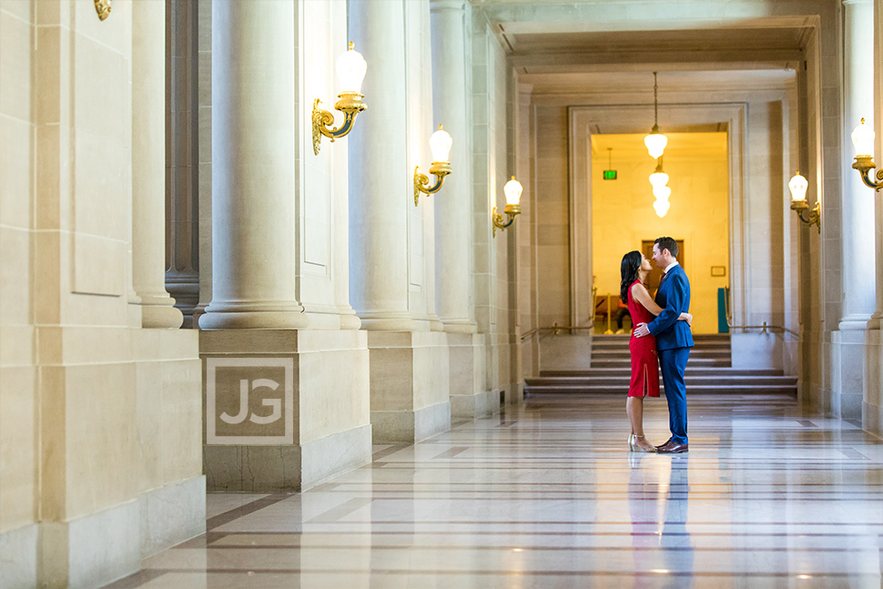
M735 369L727 334L696 334L685 372L687 394L757 394L797 397L797 377L782 371ZM587 371L542 371L524 380L528 395L602 393L625 397L631 378L628 335L595 335L592 368ZM662 387L660 375L660 388ZM664 388L663 388L664 390Z

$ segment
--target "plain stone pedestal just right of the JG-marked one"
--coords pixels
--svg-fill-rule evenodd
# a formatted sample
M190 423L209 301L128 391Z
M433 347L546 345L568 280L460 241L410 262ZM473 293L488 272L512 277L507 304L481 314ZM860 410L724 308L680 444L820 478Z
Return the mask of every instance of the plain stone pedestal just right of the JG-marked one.
M415 443L451 429L448 337L368 332L374 443Z

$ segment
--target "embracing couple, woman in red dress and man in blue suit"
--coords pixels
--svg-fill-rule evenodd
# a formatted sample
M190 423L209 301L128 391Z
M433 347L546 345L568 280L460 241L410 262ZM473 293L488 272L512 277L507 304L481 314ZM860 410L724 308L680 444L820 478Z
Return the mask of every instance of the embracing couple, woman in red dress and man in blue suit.
M677 243L672 238L656 239L653 259L665 272L655 300L644 287L650 273L650 260L640 251L623 257L620 297L628 304L634 328L628 342L632 355L632 381L625 411L632 425L628 437L632 452L687 452L686 387L684 371L693 347L693 315L690 308L690 281L677 263ZM672 437L653 446L644 437L644 397L659 396L659 368L662 367L668 421Z

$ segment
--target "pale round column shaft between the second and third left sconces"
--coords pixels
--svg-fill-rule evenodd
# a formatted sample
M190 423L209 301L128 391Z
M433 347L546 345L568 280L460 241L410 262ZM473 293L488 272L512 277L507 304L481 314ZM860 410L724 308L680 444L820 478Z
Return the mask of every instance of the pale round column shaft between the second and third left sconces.
M464 0L432 0L432 113L436 125L455 138L453 173L445 178L444 192L433 198L436 258L436 308L445 331L474 333L469 313L472 244L470 192L471 155L466 149L470 128L466 122L466 14Z

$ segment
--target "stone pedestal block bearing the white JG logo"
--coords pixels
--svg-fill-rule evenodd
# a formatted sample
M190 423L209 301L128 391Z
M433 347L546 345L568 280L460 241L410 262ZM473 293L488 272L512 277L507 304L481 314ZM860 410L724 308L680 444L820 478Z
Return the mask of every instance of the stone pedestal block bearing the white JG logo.
M369 463L366 340L358 330L200 331L208 490L305 491Z

